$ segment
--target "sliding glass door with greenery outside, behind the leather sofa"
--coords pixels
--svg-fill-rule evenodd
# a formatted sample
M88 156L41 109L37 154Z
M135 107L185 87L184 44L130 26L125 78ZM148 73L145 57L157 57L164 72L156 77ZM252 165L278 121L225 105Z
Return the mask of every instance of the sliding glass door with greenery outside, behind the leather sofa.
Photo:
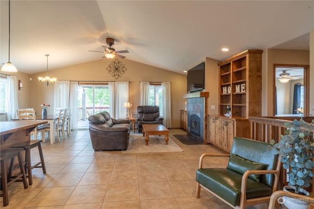
M88 117L109 110L108 85L78 85L78 129L88 128Z

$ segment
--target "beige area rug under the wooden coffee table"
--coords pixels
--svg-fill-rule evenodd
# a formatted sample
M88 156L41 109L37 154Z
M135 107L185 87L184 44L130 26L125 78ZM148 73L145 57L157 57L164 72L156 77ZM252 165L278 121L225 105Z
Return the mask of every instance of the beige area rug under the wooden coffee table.
M130 133L129 147L122 153L147 153L147 152L183 152L170 137L165 144L165 136L149 136L148 145L145 145L145 137L142 134Z

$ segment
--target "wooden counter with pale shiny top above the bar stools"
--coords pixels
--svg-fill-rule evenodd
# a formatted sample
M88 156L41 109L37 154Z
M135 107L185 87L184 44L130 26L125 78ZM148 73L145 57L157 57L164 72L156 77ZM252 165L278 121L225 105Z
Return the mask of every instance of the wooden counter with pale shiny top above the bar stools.
M30 140L30 132L47 121L0 121L0 149Z

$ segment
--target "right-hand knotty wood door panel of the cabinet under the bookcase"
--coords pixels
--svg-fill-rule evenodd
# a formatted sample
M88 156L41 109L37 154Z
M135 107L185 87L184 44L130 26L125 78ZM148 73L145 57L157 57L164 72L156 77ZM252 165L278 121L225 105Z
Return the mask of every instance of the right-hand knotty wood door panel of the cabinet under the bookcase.
M230 152L234 140L234 121L220 119L220 131L220 147Z

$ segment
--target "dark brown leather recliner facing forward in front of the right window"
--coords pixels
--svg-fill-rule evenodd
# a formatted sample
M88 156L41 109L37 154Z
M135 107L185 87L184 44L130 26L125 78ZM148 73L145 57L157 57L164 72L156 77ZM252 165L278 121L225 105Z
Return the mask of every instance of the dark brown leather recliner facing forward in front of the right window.
M142 133L143 124L162 124L162 117L159 117L158 106L137 106L137 127L138 133Z

